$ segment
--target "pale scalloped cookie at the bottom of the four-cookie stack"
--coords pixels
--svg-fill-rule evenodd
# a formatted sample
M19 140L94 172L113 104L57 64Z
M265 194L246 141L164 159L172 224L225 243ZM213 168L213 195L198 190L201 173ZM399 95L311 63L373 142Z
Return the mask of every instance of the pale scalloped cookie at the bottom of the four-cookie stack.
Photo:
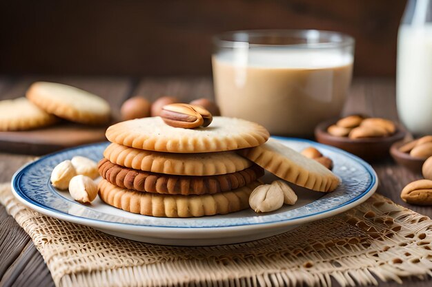
M246 187L206 195L165 195L131 191L106 180L99 182L101 200L117 209L157 217L201 217L227 214L249 207L249 195L259 182Z

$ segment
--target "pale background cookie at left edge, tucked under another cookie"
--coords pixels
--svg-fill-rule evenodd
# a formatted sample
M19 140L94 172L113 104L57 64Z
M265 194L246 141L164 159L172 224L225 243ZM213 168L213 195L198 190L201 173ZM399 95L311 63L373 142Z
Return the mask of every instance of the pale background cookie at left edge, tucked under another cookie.
M0 131L35 129L56 123L57 120L57 117L39 109L26 98L0 101Z

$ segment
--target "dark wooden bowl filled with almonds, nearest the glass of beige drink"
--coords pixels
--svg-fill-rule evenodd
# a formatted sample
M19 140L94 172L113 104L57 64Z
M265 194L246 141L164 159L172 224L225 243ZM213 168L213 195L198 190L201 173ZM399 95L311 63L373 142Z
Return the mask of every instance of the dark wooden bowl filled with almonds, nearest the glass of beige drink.
M402 140L406 135L406 131L402 126L389 120L366 117L359 120L357 117L352 118L352 116L350 118L353 124L348 125L342 121L342 123L346 124L343 127L337 126L337 123L341 123L342 119L328 120L317 125L315 128L317 142L344 149L368 162L375 162L389 157L391 145ZM357 119L357 121L354 119ZM367 121L362 125L362 122L366 119ZM389 122L393 124L394 129L391 128ZM376 123L378 125L375 125ZM342 132L342 129L335 129L335 127L350 129L350 131L346 134L346 131ZM331 134L332 129L333 131L340 131L340 133Z

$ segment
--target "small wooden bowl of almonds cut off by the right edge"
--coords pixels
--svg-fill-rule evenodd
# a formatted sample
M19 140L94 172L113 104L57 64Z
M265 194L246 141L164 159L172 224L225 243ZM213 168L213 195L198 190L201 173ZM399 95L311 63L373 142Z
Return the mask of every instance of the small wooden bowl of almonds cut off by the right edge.
M395 142L391 146L390 153L398 164L403 165L413 173L422 173L423 163L432 156L432 136Z

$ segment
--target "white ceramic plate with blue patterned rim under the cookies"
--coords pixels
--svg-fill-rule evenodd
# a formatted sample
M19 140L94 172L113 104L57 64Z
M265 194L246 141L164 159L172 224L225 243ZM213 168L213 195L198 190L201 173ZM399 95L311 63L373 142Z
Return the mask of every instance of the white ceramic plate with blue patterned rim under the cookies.
M298 195L294 206L283 206L271 213L257 214L251 209L199 218L161 218L128 213L108 206L99 198L91 205L75 202L68 191L58 191L50 184L52 169L73 156L100 160L108 143L86 145L52 153L22 167L12 178L12 191L24 205L45 215L92 226L119 237L155 244L204 246L233 244L277 235L291 228L336 215L364 202L377 189L372 167L334 147L308 140L277 138L300 151L317 147L333 159L333 171L342 184L331 193L319 193L292 186ZM264 182L273 180L266 174Z

